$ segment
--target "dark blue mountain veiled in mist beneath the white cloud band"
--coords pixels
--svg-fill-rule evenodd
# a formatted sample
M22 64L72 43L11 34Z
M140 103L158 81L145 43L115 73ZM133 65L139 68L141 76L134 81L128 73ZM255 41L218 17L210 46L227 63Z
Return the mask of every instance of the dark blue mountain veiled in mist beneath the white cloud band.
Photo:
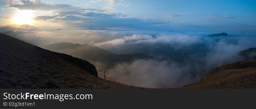
M131 54L140 52L142 54L155 57L159 60L186 62L188 58L200 58L209 51L205 44L195 44L181 48L176 48L175 44L155 43L136 46L134 48L109 48L114 53ZM189 56L189 57L188 57ZM198 60L198 59L197 59Z

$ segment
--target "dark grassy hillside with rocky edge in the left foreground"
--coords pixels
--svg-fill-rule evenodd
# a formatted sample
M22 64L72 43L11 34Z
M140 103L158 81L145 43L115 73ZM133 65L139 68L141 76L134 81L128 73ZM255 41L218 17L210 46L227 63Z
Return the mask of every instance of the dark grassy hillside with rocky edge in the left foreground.
M97 76L90 62L0 33L0 88L134 88Z

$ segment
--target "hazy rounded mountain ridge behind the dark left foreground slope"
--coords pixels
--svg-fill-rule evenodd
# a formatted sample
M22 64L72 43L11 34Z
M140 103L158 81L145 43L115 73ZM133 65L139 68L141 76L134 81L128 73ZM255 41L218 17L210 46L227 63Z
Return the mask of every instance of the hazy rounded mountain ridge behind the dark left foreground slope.
M118 55L96 46L67 42L54 43L51 45L42 46L42 48L55 52L66 53L68 55L79 57L90 62L101 62L109 66L120 62L131 62L137 59L153 59L153 57L141 53Z

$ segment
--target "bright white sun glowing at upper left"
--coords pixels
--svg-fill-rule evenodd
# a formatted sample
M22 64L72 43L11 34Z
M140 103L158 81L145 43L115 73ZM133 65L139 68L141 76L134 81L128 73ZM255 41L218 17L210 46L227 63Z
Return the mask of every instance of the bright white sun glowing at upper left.
M17 11L14 22L18 25L29 24L31 25L34 22L32 18L33 12L30 10L19 10Z

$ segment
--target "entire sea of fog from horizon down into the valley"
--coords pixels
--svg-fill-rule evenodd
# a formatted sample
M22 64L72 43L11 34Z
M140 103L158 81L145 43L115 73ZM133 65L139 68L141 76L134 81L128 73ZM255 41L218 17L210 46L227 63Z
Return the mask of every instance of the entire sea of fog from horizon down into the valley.
M140 59L106 67L92 62L98 73L109 72L116 82L146 87L181 87L198 81L209 70L240 61L241 50L256 47L255 34L227 33L207 37L208 32L152 32L52 30L20 31L8 35L36 46L71 42L88 44L117 54L143 53L154 59Z

